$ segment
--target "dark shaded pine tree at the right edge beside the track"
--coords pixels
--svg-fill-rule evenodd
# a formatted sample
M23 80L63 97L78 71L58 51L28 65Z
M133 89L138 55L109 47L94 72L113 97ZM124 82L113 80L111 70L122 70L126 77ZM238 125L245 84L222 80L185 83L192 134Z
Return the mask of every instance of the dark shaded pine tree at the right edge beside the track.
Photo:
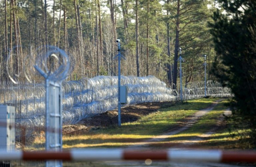
M232 89L233 114L256 126L256 1L222 0L210 24L217 57L213 72ZM252 128L255 132L255 128Z

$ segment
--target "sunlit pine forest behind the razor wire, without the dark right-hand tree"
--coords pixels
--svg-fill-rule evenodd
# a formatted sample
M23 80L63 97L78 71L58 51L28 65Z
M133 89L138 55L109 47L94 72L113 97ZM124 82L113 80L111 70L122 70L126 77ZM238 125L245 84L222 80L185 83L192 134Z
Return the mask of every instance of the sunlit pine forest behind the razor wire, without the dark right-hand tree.
M217 8L216 0L1 0L0 79L9 80L8 72L20 82L42 81L33 65L44 45L70 56L70 80L116 75L121 39L124 76L154 75L175 88L181 47L183 84L204 80L204 55L213 80L208 23Z

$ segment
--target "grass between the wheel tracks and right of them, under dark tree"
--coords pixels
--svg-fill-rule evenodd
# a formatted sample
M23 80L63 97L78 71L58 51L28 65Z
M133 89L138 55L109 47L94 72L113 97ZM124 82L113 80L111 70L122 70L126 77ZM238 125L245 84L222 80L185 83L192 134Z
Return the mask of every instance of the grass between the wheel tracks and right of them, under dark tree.
M204 134L216 125L219 116L227 109L228 100L223 100L214 107L207 115L203 116L191 128L173 135L168 141L171 143L182 142L193 137L201 137L201 141L195 142L194 147L212 148L212 149L252 149L255 148L253 141L250 139L251 128L246 126L246 121L240 126L234 126L238 123L229 116L225 119L225 125L216 129L216 133L209 137ZM242 119L242 118L241 118ZM241 121L242 122L242 121ZM167 143L168 143L167 142ZM163 142L164 143L164 142ZM166 143L166 142L165 142Z

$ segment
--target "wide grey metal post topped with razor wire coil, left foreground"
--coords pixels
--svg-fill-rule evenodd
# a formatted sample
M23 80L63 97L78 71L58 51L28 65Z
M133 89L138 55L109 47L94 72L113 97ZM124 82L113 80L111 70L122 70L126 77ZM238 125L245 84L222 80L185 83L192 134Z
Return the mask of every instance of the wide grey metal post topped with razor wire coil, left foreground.
M46 127L46 150L61 151L62 150L62 80L64 80L69 71L69 57L63 50L56 47L46 46L47 52L44 59L54 55L59 55L58 61L61 61L59 69L52 71L45 67L47 62L37 62L34 68L45 78L46 82L46 111L45 111L45 127ZM41 66L43 71L38 65ZM50 62L52 63L52 62ZM52 65L51 65L52 66ZM52 160L46 162L46 167L61 167L62 161Z

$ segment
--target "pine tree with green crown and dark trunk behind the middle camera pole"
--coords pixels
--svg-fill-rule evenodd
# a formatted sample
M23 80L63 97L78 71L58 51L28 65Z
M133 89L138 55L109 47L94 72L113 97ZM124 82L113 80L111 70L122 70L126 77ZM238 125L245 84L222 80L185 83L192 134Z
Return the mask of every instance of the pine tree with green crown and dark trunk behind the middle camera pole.
M207 1L205 0L172 0L167 10L170 12L170 19L175 25L175 47L174 47L174 69L173 88L177 85L177 60L178 48L187 49L187 43L200 38L201 26L208 17ZM169 9L168 9L169 7ZM206 22L205 22L206 23ZM190 33L193 32L193 33ZM190 33L190 35L188 35ZM196 54L194 54L196 55ZM169 72L171 72L169 70ZM168 77L169 82L170 77Z

